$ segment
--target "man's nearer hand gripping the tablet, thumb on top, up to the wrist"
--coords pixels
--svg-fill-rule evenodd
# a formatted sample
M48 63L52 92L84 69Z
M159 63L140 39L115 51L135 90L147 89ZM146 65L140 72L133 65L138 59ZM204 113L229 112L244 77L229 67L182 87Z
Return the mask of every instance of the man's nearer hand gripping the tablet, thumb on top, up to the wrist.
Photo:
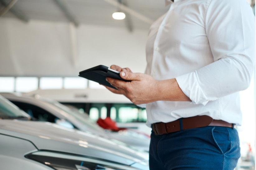
M142 73L131 73L122 71L121 78L131 80L124 82L122 80L108 77L106 80L118 90L108 88L111 92L118 91L119 94L125 95L134 104L145 104L157 101L158 98L158 81L153 77Z

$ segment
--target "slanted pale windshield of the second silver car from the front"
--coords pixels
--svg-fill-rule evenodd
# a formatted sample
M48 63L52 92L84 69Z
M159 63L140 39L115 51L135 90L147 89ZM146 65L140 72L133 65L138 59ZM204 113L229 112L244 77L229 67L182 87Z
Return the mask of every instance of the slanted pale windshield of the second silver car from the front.
M81 123L87 125L89 128L91 128L93 130L104 131L104 129L102 129L99 125L94 123L86 113L80 113L78 111L78 109L75 109L75 108L71 109L71 108L69 108L67 106L64 106L63 104L61 104L61 103L59 103L59 102L57 102L55 100L46 99L46 98L43 98L43 97L40 97L40 100L48 102L48 103L58 107L59 109L65 111L69 115L75 117L78 121L80 121Z

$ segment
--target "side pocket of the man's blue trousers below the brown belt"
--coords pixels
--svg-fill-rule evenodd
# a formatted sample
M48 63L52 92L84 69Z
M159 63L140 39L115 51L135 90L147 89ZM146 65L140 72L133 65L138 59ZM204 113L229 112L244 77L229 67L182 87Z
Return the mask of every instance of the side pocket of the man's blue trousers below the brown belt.
M213 127L211 130L211 136L216 148L221 154L225 154L231 149L229 131L226 127Z

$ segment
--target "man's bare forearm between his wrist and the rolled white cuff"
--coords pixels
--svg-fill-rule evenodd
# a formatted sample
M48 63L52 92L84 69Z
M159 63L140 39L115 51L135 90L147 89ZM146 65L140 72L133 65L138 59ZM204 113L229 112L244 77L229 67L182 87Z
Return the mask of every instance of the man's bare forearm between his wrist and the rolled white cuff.
M168 80L159 80L157 83L158 97L157 101L184 101L191 102L179 87L175 78Z

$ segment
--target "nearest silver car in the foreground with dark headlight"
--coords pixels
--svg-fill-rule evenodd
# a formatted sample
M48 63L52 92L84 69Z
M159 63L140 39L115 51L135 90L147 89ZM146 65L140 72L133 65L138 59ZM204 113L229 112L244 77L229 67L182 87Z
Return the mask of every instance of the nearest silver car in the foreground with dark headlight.
M50 122L0 95L0 169L148 170L148 153Z

